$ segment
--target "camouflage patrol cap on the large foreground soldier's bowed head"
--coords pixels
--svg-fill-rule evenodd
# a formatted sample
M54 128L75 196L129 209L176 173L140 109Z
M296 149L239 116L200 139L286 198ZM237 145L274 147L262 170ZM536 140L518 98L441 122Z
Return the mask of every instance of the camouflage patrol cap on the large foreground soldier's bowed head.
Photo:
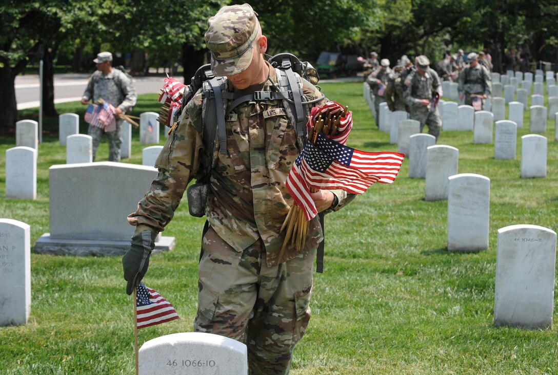
M257 13L249 4L222 7L210 17L205 42L211 51L213 74L233 75L248 68L258 31Z

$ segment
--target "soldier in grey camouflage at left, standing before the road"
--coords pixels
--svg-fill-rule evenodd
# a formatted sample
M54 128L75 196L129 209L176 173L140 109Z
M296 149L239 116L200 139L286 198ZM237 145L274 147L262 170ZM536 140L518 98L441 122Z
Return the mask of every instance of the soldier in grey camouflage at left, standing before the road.
M103 99L116 110L116 115L131 110L137 101L136 88L132 79L119 69L112 67L112 54L101 52L93 60L97 65L97 72L89 78L81 103L87 105L90 99L96 102ZM89 125L88 134L93 137L93 161L97 155L97 148L103 137L107 135L109 144L109 162L120 162L120 145L122 144L122 121L116 118L116 130L104 131L102 127Z

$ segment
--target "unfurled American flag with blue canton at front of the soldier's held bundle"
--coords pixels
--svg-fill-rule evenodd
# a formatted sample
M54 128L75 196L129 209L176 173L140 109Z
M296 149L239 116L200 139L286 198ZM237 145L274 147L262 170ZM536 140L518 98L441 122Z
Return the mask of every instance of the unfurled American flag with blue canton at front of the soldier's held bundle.
M310 188L362 194L374 182L392 183L404 157L401 153L359 151L320 133L316 145L307 141L296 159L287 177L287 190L310 220L318 213Z

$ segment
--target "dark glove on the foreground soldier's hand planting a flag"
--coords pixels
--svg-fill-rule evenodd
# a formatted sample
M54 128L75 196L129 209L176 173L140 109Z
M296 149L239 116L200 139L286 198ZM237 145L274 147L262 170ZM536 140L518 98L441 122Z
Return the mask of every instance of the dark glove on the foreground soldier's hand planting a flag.
M155 238L157 232L143 230L136 232L132 236L132 244L124 257L122 257L122 267L124 268L124 280L128 282L126 293L131 295L134 288L140 284L141 279L147 272L149 266L149 256L155 248Z

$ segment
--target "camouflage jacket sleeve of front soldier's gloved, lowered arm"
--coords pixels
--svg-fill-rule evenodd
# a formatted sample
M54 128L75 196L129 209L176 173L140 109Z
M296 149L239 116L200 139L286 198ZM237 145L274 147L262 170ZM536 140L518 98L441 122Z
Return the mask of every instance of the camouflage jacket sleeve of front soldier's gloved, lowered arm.
M128 216L131 225L147 225L162 231L174 216L188 183L198 172L201 140L201 91L187 104L180 122L171 129L155 167L157 178L138 203L137 211Z

